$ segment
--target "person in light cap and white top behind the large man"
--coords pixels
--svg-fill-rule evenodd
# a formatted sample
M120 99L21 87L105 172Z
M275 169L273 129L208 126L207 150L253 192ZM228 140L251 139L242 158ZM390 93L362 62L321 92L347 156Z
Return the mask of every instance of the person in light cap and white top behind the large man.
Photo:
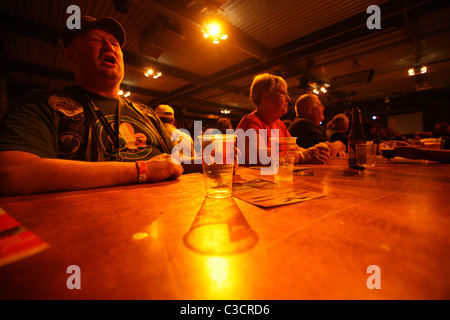
M180 157L188 156L193 157L194 156L194 140L192 140L192 137L190 134L185 133L177 127L175 127L175 112L173 111L173 108L167 104L160 104L155 109L156 114L161 119L162 123L164 124L164 127L166 128L166 131L168 132L169 136L172 139L172 142L179 146L179 155ZM190 152L187 154L184 154L185 150L189 150Z

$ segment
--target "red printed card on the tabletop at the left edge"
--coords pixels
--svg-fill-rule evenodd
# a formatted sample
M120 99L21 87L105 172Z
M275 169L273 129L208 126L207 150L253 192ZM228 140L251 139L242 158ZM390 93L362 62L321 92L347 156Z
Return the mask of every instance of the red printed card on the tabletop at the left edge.
M47 247L47 243L0 208L0 267Z

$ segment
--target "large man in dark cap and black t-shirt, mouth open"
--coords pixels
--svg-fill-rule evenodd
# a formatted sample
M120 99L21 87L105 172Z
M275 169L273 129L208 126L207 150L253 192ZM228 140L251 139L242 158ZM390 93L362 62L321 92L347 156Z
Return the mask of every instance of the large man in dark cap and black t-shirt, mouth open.
M150 108L118 95L125 32L112 18L65 29L76 86L34 90L0 123L0 196L176 179L172 141ZM144 115L142 110L148 113Z

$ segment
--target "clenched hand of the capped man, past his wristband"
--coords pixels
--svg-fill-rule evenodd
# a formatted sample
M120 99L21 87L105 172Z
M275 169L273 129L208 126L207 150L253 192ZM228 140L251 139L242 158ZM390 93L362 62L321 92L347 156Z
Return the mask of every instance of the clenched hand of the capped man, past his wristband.
M147 182L177 179L183 174L181 164L174 162L172 157L166 153L145 161L145 165L147 166Z

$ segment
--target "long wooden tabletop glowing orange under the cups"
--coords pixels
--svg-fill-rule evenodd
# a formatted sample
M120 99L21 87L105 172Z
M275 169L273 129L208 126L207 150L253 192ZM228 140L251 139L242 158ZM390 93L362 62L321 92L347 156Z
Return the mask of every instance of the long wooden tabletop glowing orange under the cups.
M375 176L307 165L283 185L325 196L272 208L205 199L201 174L0 198L49 246L0 267L0 298L449 299L450 165L377 160Z

